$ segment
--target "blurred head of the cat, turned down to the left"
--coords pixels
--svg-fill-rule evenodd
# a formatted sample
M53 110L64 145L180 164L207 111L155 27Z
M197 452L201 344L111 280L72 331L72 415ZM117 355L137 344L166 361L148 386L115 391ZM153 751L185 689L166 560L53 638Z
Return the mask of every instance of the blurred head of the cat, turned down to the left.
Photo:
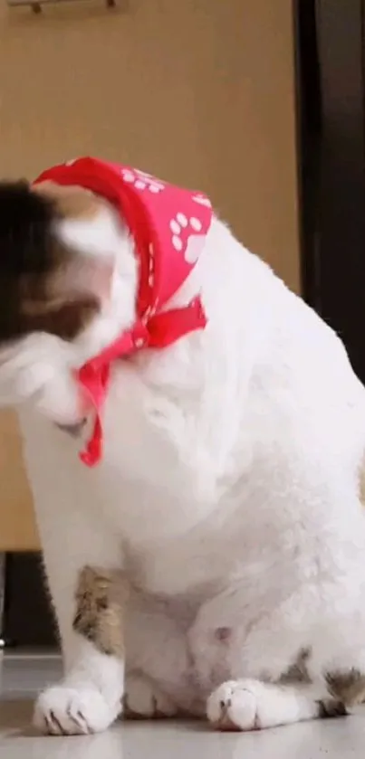
M133 321L136 288L110 204L79 187L0 183L0 406L80 422L75 370Z

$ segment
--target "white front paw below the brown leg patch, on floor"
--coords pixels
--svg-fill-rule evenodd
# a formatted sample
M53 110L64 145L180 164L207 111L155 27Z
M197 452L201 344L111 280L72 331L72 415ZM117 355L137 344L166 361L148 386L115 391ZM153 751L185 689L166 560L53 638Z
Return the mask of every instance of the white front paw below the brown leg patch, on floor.
M55 686L41 693L34 726L45 735L88 735L106 730L120 715L121 702L110 704L100 690Z

